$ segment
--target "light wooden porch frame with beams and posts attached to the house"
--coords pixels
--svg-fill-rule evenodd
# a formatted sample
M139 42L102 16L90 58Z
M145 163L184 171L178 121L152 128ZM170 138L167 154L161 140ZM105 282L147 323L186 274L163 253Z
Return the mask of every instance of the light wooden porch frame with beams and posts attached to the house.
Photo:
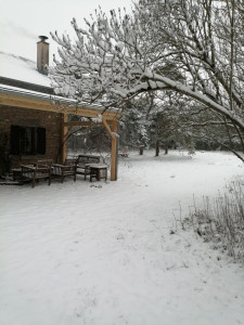
M62 114L62 161L64 161L67 157L67 142L65 139L67 138L70 128L77 126L88 127L91 125L103 126L110 134L112 141L111 181L115 181L117 178L117 136L115 133L118 131L118 119L120 118L118 109L113 108L104 112L104 108L102 106L100 107L99 105L73 105L72 101L61 98L59 99L60 101L56 100L54 95L47 95L47 92L30 93L15 91L9 88L5 90L1 89L0 91L0 105ZM100 119L101 121L98 123L94 121L68 121L68 115L94 118Z

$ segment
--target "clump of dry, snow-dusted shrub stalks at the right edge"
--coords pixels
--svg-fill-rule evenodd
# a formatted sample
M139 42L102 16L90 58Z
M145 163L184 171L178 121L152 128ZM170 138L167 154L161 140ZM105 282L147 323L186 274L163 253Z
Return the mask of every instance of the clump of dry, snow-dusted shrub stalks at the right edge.
M191 223L195 232L220 249L244 262L244 182L236 180L215 199L203 198L203 208L194 205Z

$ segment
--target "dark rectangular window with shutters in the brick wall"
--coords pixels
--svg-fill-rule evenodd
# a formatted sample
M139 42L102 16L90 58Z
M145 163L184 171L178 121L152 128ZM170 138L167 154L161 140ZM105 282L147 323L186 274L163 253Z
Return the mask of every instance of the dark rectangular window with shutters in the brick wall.
M11 126L12 155L44 155L46 129Z

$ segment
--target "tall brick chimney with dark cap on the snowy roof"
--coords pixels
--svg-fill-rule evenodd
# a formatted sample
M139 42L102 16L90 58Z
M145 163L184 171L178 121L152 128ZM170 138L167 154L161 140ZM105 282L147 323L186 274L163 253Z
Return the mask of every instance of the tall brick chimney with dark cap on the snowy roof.
M40 74L48 75L46 65L49 65L49 43L46 42L47 36L39 36L37 42L37 69Z

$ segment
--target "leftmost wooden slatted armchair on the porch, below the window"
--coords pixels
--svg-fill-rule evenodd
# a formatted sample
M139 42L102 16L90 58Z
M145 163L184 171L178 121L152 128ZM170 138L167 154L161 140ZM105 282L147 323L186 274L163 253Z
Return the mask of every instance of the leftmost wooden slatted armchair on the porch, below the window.
M22 178L30 180L33 182L33 187L35 187L36 181L43 179L49 180L49 185L51 184L51 167L38 167L22 165Z

